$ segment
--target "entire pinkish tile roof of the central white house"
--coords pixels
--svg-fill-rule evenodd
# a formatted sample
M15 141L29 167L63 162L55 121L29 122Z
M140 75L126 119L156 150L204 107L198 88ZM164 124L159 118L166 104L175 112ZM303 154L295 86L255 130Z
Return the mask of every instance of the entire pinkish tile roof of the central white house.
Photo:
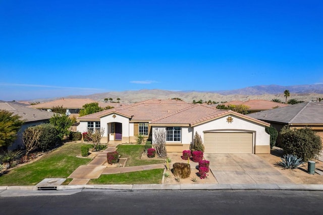
M189 124L197 125L228 114L234 114L244 119L254 121L263 125L267 123L235 113L230 110L219 110L206 104L191 104L179 100L151 99L136 104L129 104L120 108L98 112L84 117L81 121L98 120L100 117L116 113L128 118L131 121L146 121L152 124ZM268 124L269 125L269 124Z

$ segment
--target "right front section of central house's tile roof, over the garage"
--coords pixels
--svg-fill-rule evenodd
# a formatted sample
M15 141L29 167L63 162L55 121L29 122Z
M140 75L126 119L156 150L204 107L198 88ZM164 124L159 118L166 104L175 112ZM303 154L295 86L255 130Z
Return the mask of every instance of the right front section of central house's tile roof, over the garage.
M265 122L262 122L257 119L253 119L251 117L247 117L245 115L242 115L230 110L219 110L203 104L195 104L193 106L189 106L186 109L178 111L174 114L170 114L163 118L153 120L150 123L151 124L189 124L190 126L194 126L229 114L240 116L242 118L267 125L267 123Z

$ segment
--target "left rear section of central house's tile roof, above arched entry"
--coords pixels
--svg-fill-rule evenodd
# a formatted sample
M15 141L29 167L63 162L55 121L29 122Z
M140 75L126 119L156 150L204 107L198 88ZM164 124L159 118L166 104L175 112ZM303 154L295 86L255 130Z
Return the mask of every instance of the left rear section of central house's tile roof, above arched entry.
M79 117L79 120L97 120L111 113L131 118L132 121L151 121L178 112L193 104L174 99L150 99L135 104L123 105L114 109Z

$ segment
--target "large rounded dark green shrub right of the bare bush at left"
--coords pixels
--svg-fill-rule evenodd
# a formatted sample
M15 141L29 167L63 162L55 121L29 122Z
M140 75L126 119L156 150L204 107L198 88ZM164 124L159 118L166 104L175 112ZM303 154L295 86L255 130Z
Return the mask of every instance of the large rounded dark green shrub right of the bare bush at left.
M37 146L42 151L47 151L61 143L61 138L55 126L51 124L41 124L39 125L41 129L41 134L37 142Z

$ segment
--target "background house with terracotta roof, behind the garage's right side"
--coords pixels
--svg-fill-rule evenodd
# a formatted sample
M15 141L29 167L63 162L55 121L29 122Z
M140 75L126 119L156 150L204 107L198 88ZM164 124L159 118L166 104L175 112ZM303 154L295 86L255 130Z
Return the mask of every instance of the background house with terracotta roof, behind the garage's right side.
M255 100L248 100L248 101L230 101L230 102L225 102L221 103L224 105L229 105L229 104L234 104L234 105L246 105L248 106L248 112L249 113L255 113L259 111L265 111L265 110L270 110L270 109L275 109L275 108L283 108L285 106L288 106L288 104L284 103L279 103L275 101L267 101L267 100L260 100L260 99L255 99ZM218 105L218 104L217 104Z

